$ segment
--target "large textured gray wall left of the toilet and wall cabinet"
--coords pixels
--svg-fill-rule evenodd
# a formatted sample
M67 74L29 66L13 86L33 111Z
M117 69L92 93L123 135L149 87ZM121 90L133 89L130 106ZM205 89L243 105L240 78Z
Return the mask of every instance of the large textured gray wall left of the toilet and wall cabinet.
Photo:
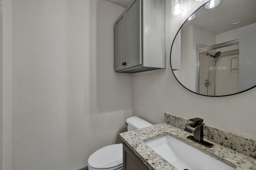
M132 115L131 74L114 72L104 0L12 0L12 170L75 170Z

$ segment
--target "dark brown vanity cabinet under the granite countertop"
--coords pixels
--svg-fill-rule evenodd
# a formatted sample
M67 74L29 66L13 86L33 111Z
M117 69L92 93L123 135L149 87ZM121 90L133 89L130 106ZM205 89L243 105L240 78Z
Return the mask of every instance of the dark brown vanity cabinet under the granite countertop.
M149 170L146 165L123 143L123 170Z

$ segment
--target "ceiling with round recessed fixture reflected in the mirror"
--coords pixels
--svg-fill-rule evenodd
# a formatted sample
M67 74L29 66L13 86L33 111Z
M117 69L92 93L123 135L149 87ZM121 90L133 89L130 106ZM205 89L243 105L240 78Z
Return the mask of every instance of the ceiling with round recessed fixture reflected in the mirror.
M186 21L182 29L194 25L215 35L237 29L256 22L256 0L221 0L212 9L204 6L196 11L196 17ZM236 25L229 25L231 21L243 20Z

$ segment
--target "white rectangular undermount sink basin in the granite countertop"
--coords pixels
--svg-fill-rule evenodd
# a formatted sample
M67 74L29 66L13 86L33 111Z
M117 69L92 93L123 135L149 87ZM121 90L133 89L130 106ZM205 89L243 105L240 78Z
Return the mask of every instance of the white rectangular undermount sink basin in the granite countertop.
M178 170L235 170L233 167L168 135L148 141L146 145Z

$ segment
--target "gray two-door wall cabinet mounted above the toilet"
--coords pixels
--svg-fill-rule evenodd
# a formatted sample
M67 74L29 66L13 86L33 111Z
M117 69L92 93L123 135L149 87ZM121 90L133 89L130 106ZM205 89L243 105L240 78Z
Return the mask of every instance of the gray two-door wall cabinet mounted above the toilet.
M133 0L116 20L116 72L166 68L165 0Z

